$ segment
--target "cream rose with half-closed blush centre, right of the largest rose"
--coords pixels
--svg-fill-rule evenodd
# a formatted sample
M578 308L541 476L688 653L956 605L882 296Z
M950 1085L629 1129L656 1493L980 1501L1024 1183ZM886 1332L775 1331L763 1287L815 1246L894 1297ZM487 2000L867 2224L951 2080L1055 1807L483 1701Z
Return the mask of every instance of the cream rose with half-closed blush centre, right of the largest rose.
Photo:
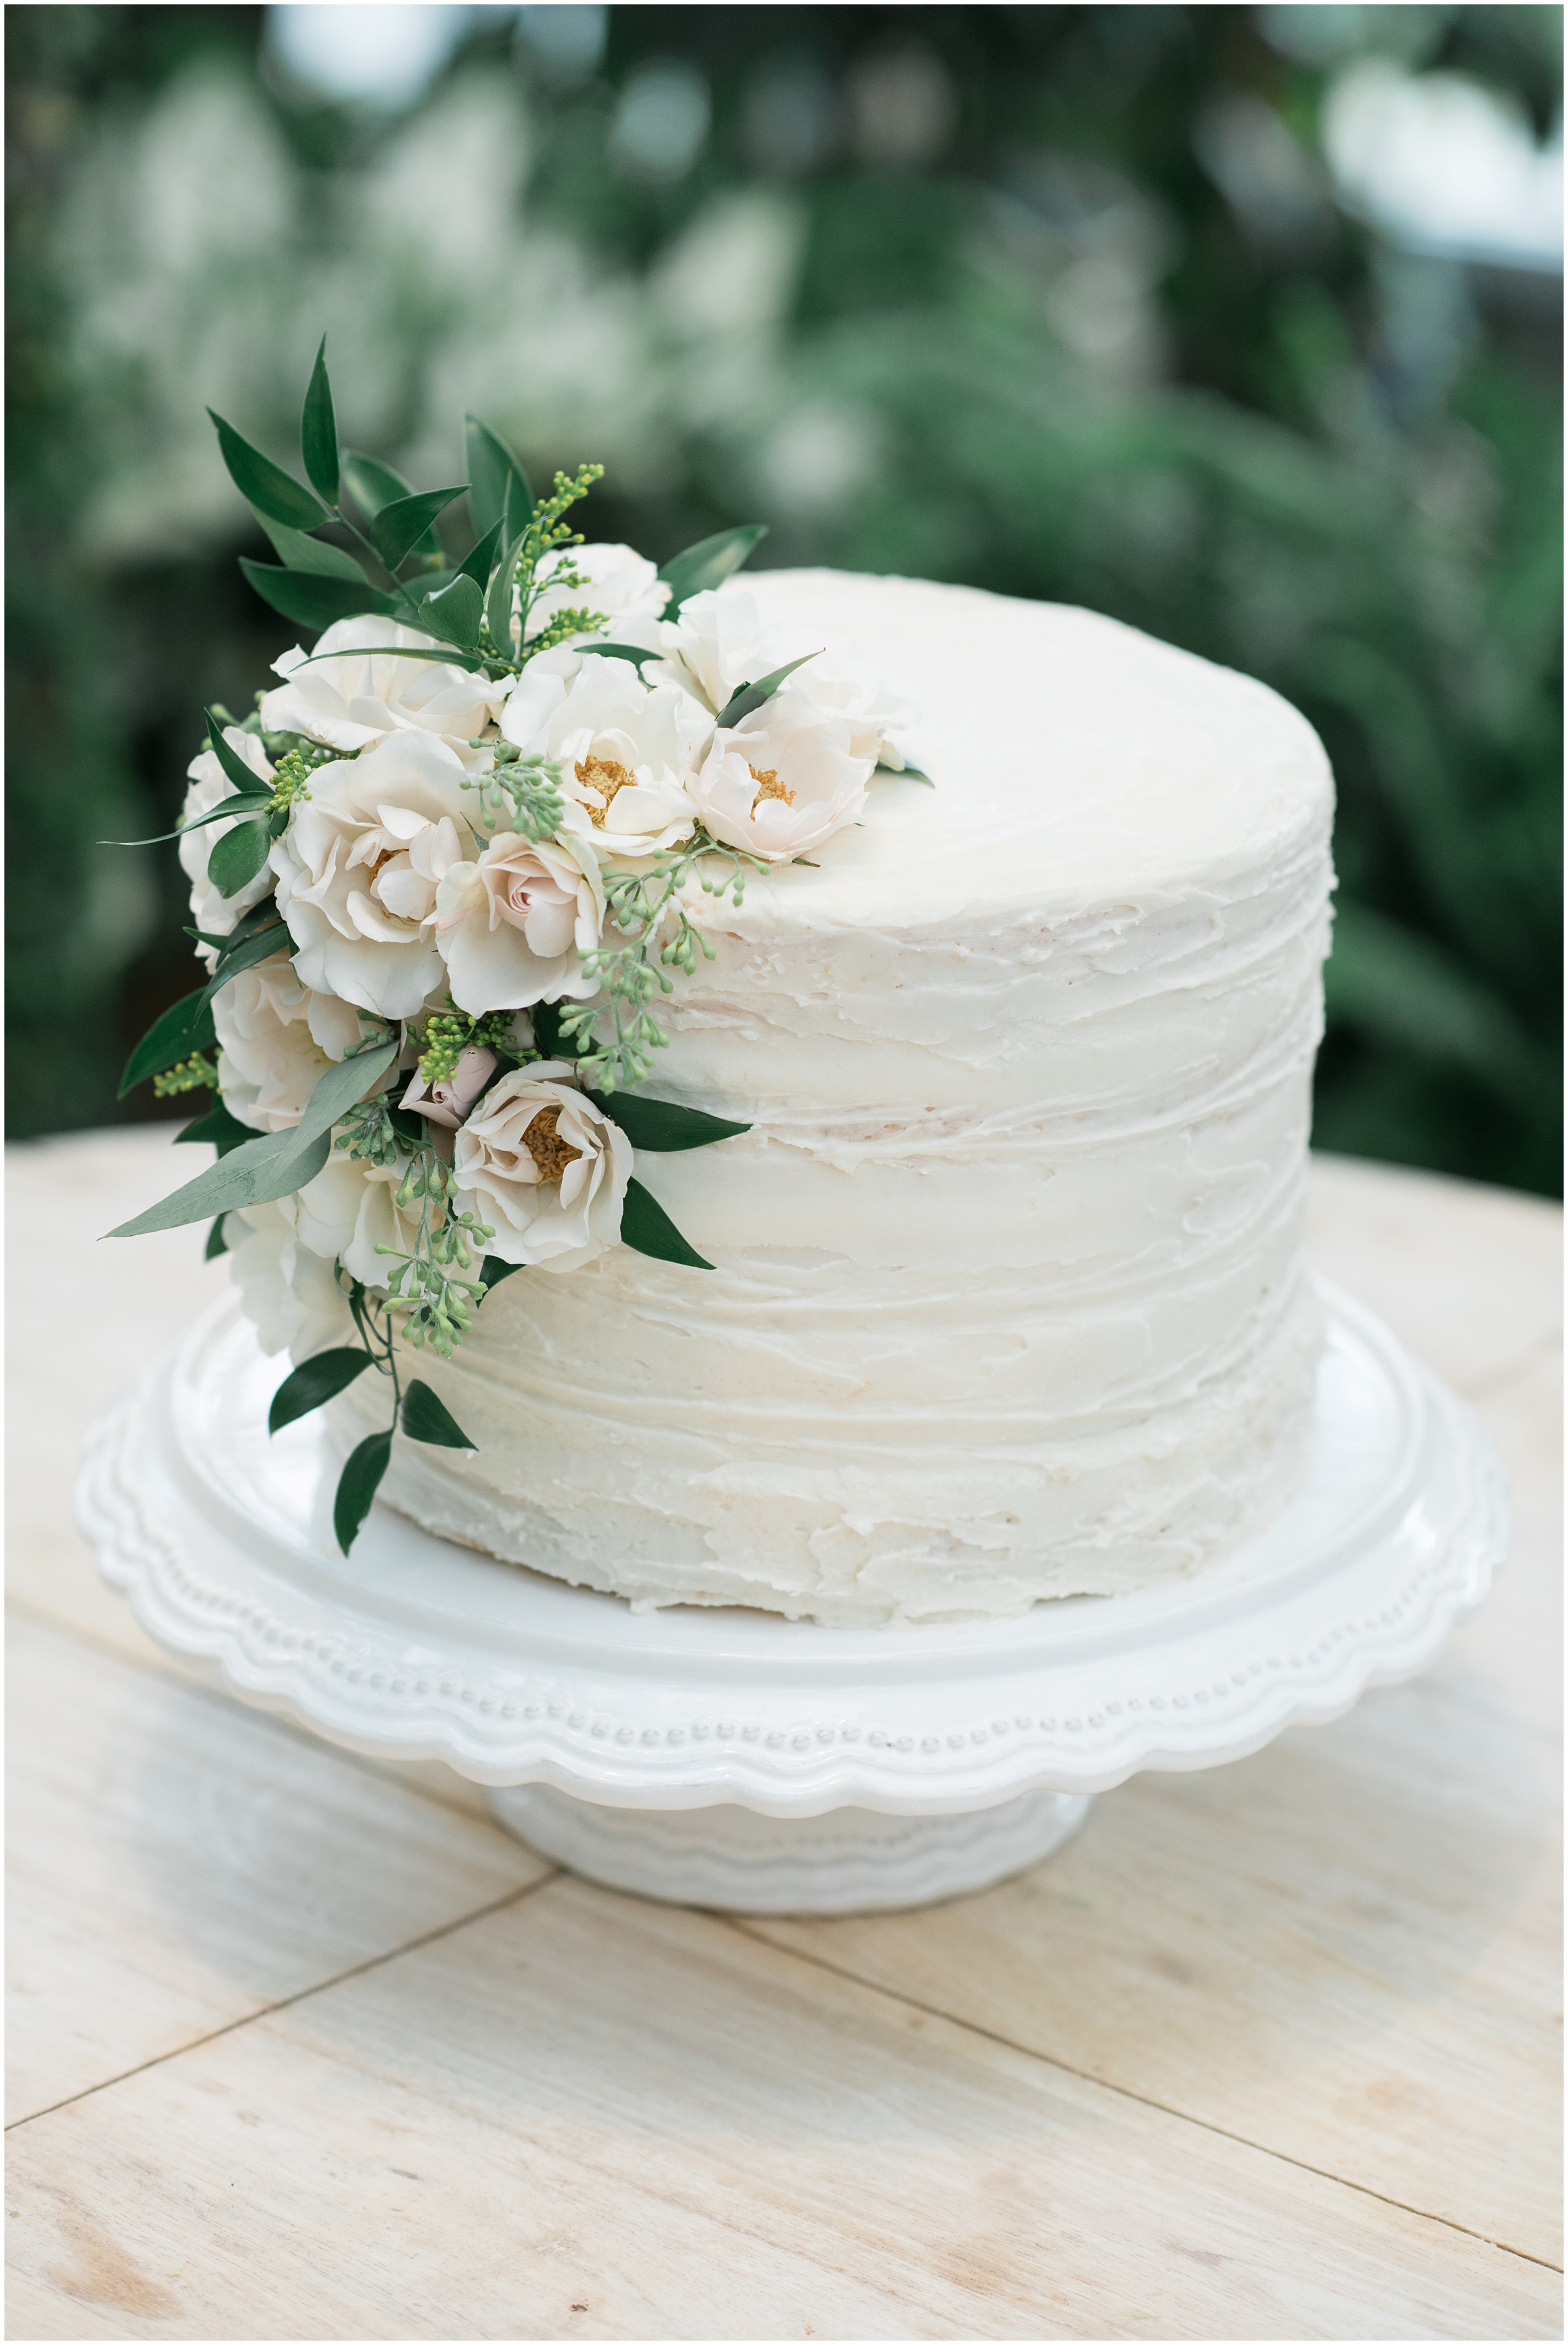
M572 840L502 830L473 863L455 863L436 889L434 938L452 1001L469 1018L598 992L581 957L605 924L598 856Z

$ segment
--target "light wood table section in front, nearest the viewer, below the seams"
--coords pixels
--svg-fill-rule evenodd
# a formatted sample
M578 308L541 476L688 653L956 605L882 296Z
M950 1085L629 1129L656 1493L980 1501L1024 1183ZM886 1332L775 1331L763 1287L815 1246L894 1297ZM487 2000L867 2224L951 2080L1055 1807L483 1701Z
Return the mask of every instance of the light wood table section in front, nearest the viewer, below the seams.
M35 2120L7 2204L38 2338L1556 2333L1538 2265L563 1881Z

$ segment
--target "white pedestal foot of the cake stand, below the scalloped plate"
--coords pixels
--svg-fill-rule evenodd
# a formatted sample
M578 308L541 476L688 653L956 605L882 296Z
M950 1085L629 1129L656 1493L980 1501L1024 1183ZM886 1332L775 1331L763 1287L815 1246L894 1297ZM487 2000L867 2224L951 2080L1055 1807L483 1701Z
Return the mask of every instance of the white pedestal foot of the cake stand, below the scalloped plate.
M1090 1808L1073 1792L1024 1792L966 1815L602 1808L544 1782L492 1792L490 1806L588 1881L727 1914L886 1914L966 1897L1050 1857Z

